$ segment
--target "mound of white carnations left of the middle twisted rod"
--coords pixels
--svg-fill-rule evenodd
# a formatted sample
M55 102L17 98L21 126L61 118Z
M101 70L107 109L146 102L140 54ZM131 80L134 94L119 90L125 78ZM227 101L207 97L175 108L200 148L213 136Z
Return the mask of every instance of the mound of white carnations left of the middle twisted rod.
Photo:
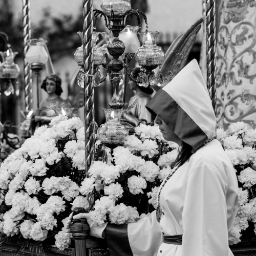
M21 233L25 239L44 241L48 231L60 230L58 220L66 219L70 213L65 211L67 206L89 207L83 195L94 188L95 179L90 184L84 181L81 187L75 182L75 174L79 170L83 174L85 166L82 126L79 118L59 115L52 119L50 127L39 127L34 136L4 161L0 168L0 189L8 192L4 197L1 193L1 204L11 208L0 216L0 232L7 236ZM115 174L105 174L105 183L111 183L118 174L117 170ZM16 221L20 221L19 225ZM70 238L71 234L62 229L55 236L55 244L60 249L67 248Z

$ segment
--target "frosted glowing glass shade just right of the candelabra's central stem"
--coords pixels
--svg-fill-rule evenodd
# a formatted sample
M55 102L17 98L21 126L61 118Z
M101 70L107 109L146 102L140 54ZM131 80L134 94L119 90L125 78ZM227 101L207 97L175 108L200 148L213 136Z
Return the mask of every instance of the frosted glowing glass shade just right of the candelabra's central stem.
M137 36L139 26L127 25L119 34L119 39L125 45L124 53L136 53L140 47L140 41Z

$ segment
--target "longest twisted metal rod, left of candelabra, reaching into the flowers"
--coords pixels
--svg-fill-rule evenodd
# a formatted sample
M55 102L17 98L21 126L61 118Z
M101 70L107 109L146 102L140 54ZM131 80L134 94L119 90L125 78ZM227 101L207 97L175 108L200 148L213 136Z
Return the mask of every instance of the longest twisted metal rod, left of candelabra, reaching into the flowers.
M84 134L86 175L94 160L93 0L83 0Z

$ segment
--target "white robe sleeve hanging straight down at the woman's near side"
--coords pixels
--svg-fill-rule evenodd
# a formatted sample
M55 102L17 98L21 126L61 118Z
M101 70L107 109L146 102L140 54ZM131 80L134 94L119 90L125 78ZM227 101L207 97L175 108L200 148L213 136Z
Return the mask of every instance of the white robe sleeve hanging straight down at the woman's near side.
M182 256L228 255L226 184L218 170L207 165L189 171L182 213Z

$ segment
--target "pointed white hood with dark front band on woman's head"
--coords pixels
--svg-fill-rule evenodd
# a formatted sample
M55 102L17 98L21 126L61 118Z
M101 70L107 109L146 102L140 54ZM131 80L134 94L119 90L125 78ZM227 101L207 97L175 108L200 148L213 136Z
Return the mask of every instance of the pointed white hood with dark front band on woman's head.
M215 136L216 116L197 61L194 59L146 105L194 151Z

